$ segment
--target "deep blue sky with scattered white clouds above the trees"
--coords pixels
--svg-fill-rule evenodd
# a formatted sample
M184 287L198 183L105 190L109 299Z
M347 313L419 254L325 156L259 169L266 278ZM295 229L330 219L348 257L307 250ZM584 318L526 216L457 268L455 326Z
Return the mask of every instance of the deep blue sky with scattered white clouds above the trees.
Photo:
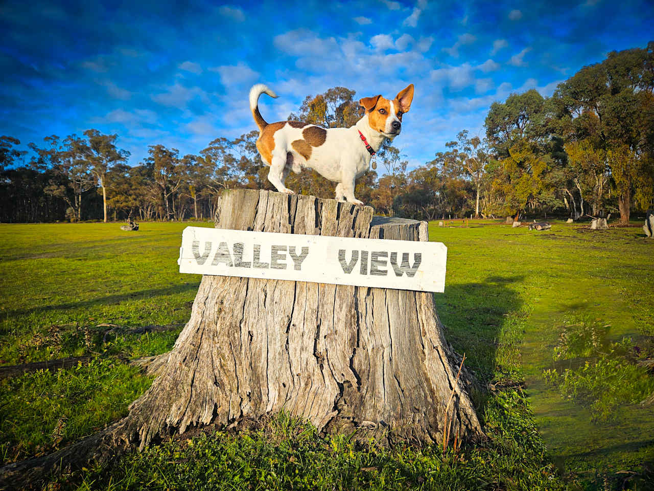
M552 94L611 50L654 39L651 1L0 4L0 134L20 147L96 128L138 164L148 145L199 153L333 86L394 97L415 84L394 143L409 167L460 130L483 135L493 101Z

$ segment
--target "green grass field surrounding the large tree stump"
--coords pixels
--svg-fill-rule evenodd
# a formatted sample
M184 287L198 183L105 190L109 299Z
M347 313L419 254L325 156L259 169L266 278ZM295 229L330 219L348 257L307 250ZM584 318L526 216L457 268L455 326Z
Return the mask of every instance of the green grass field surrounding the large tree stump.
M128 329L188 320L199 276L177 272L186 225L211 227L0 225L0 364L95 359L0 380L3 462L93 433L146 390L150 378L126 360L169 350L181 327L146 335ZM555 222L530 232L490 221L432 223L430 240L448 247L445 293L436 295L447 337L495 388L479 401L485 445L361 448L282 414L249 431L183 437L111 468L55 476L53 486L654 488L653 405L627 397L651 387L638 361L654 350L654 241L640 228L591 232ZM101 324L120 328L107 333ZM573 335L581 339L576 352ZM565 383L546 384L545 370Z

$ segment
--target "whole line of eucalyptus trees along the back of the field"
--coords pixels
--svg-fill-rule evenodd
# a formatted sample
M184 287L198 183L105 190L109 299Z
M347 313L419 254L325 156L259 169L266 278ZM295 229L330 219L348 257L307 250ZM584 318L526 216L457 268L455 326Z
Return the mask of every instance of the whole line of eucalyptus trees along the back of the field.
M377 213L419 219L520 214L584 216L651 208L654 199L654 42L611 52L557 86L494 102L485 135L461 130L434 159L413 170L387 143L377 171L357 182L356 195ZM355 92L335 87L307 96L289 120L348 127L362 116ZM118 135L29 143L0 137L0 221L87 219L182 220L213 217L222 189L272 189L256 150L258 132L218 137L197 155L150 145L128 165ZM286 185L333 198L334 183L303 170Z

